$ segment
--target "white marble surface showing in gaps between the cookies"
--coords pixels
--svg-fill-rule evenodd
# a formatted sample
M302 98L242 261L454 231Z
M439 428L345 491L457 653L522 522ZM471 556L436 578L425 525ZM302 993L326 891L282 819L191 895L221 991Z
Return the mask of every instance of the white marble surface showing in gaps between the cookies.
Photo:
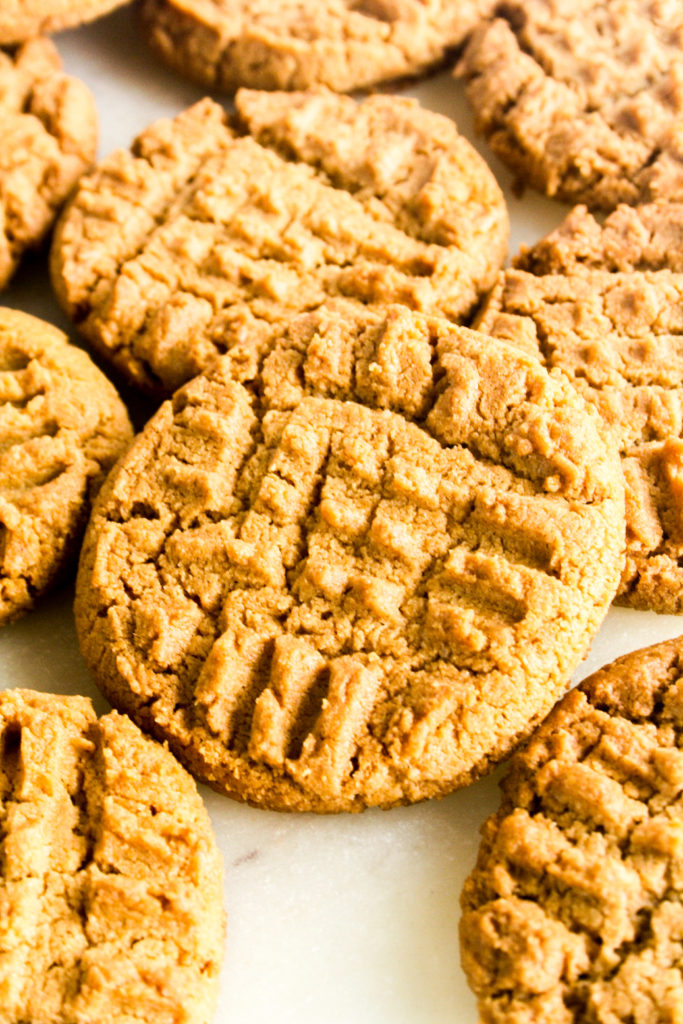
M102 156L203 94L157 63L130 9L55 42L68 70L93 90ZM402 91L455 118L472 137L462 88L447 74ZM564 210L530 194L513 196L507 171L479 148L506 189L514 252ZM44 255L31 259L0 301L69 330L44 262ZM2 631L1 685L85 693L103 711L78 652L72 598L63 589ZM675 616L612 610L575 678L682 630ZM228 931L217 1024L475 1024L459 967L458 900L478 826L497 806L495 779L439 802L335 817L257 811L202 792L225 863Z

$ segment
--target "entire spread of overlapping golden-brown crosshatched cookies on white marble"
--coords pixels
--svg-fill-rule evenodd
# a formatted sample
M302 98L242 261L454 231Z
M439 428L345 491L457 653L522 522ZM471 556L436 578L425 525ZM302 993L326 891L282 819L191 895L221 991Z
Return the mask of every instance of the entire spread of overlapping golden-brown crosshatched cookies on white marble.
M0 1021L208 1024L190 775L360 811L510 755L463 893L482 1024L678 1020L683 641L563 694L612 600L683 612L680 5L141 0L213 96L93 166L40 33L114 6L0 11L0 287L49 240L92 353L0 309L0 623L78 561L117 709L0 694ZM345 94L456 58L519 185L579 204L507 269L453 120Z

